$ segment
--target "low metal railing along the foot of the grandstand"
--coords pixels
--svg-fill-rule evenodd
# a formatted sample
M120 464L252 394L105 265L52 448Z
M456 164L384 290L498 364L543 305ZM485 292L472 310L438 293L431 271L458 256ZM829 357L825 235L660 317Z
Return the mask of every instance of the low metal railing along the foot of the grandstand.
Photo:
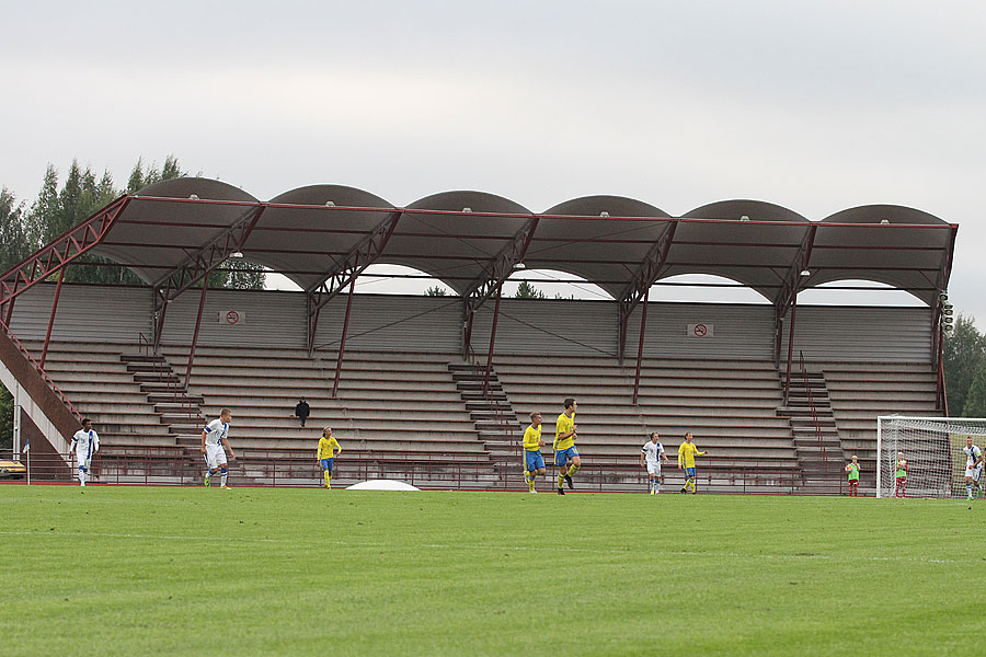
M0 459L9 459L10 450L0 451ZM26 464L25 459L21 459ZM837 486L828 479L807 480L803 473L782 466L783 460L746 461L742 466L709 466L699 469L698 489L701 493L754 493L775 495L845 495L848 485ZM514 459L456 460L447 454L362 456L340 458L335 462L333 480L341 486L368 480L398 480L419 488L526 491L520 466ZM31 458L32 483L70 483L74 481L71 456L34 454ZM492 468L491 468L492 465ZM98 453L91 464L90 483L111 485L202 485L205 464L196 450L182 448L149 449L115 448L113 453ZM553 492L555 468L549 465L538 487ZM2 480L24 483L20 480ZM663 489L677 493L684 475L675 468L666 468ZM230 461L230 485L256 487L319 487L322 475L312 453L286 456L277 450L241 450L240 458ZM576 493L634 493L647 491L646 471L635 459L588 458L575 477ZM863 487L863 493L870 489Z

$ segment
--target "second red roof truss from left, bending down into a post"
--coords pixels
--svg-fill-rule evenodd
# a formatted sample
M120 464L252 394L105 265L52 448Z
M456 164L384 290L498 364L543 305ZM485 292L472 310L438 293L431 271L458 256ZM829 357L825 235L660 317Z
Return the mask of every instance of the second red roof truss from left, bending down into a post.
M207 278L230 255L240 251L266 208L267 206L263 204L250 206L250 209L229 228L209 240L205 246L190 254L184 262L154 284L154 354L158 353L158 347L161 345L168 304L179 295ZM204 283L203 286L205 285Z

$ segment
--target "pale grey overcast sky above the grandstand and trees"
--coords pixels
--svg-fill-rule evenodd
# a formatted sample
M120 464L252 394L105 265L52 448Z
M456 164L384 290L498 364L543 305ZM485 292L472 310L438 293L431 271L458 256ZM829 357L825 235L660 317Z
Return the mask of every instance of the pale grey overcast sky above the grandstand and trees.
M4 2L0 185L138 157L257 198L394 205L617 194L961 224L950 292L986 328L986 3Z

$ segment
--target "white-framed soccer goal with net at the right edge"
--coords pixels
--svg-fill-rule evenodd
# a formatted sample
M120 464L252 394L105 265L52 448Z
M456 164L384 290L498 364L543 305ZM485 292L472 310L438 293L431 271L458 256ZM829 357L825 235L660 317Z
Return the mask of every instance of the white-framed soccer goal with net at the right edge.
M878 417L876 497L965 496L967 436L986 453L984 418Z

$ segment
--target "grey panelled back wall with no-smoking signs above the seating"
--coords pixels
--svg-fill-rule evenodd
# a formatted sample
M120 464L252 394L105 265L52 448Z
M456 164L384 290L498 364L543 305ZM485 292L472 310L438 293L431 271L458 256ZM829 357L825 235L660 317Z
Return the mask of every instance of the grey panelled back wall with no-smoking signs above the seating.
M21 339L43 339L54 285L38 285L16 302L11 330ZM163 341L192 339L199 296L191 290L168 310ZM340 296L322 311L316 344L334 350L345 315ZM229 313L237 321L230 323ZM472 344L485 351L493 302L475 320ZM641 312L627 334L627 356L637 355ZM930 362L931 316L927 308L799 306L794 353L810 360ZM496 351L616 356L618 306L612 301L504 299ZM703 324L704 337L690 326ZM462 302L455 297L358 295L353 301L347 349L443 351L461 349ZM53 339L137 343L151 335L151 290L66 285ZM644 354L650 357L756 359L773 357L773 308L769 304L651 303ZM214 290L206 298L199 344L302 348L306 303L301 292ZM787 354L787 331L782 354Z

